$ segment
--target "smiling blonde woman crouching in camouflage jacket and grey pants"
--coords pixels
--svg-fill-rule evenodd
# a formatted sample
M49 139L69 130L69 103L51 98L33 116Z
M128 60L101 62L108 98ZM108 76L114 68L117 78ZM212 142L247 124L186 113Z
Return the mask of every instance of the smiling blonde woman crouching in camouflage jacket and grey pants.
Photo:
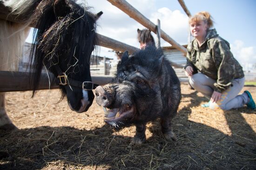
M195 14L189 19L189 25L195 39L187 47L184 69L192 87L210 99L202 106L229 110L247 105L249 109L255 109L250 92L238 95L245 81L243 68L230 52L229 43L217 34L216 29L211 29L210 14Z

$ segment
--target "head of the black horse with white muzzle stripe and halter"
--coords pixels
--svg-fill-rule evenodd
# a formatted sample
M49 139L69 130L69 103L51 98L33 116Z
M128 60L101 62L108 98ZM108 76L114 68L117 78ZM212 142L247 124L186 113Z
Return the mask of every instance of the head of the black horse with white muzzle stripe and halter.
M96 20L100 14L88 12L73 0L44 0L34 16L38 30L31 53L33 95L44 67L58 79L62 98L67 96L70 109L87 111L96 86L90 75L90 56L97 42Z

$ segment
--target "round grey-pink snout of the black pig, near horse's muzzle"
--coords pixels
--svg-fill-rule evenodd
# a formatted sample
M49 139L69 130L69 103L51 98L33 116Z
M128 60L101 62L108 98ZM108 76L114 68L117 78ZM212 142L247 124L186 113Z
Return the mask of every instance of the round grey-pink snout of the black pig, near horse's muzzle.
M108 107L113 102L111 94L107 92L102 86L95 89L96 103L103 107Z

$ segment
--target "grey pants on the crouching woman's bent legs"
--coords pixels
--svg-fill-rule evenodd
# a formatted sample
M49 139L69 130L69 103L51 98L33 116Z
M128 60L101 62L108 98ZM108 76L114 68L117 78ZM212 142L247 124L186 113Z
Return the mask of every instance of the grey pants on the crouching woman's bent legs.
M222 97L217 101L217 105L222 110L229 110L234 108L243 107L243 105L248 103L249 97L246 93L238 95L242 90L245 78L237 78L232 81L232 86L229 89L222 92ZM189 77L189 83L196 91L201 92L205 97L211 98L214 91L215 79L209 78L208 76L197 73L192 77Z

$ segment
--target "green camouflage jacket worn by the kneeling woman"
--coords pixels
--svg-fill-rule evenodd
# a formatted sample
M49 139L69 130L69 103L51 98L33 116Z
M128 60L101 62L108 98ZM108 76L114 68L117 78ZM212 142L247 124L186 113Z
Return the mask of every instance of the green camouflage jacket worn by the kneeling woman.
M243 78L243 67L230 52L229 42L222 39L215 29L209 30L204 42L199 47L194 39L187 47L187 66L192 66L194 73L202 72L216 79L216 92L228 89L235 78Z

